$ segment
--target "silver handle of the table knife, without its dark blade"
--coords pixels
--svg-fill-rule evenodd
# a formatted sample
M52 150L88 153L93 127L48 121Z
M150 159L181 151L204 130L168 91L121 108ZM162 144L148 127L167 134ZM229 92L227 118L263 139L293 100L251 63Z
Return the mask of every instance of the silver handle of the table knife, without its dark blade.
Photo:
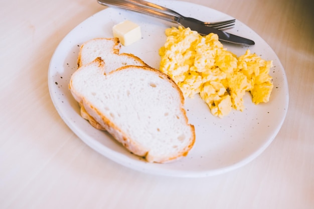
M179 17L171 15L167 12L160 11L156 8L151 8L148 6L140 5L138 3L134 3L132 1L127 0L97 0L97 2L101 5L107 7L115 7L125 10L130 10L133 12L141 13L144 15L149 15L155 18L159 18L165 21L169 21L172 23L177 23L179 21Z

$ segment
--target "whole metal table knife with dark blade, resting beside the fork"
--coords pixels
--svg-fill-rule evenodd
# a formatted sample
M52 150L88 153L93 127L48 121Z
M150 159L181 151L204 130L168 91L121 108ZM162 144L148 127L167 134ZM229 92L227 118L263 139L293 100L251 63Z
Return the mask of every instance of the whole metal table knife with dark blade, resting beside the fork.
M212 27L200 24L198 22L194 22L192 20L182 19L180 17L173 16L169 13L158 10L156 8L149 8L147 6L143 6L134 2L127 1L127 0L97 0L97 2L107 7L126 9L133 12L159 18L162 20L166 20L172 23L177 23L183 26L184 28L190 28L193 31L197 31L199 34L203 36L206 36L210 33L215 33L218 35L218 38L220 41L224 41L224 42L228 42L232 44L245 45L245 46L251 46L255 44L254 41L250 39L239 37L239 36L224 32L224 31L220 31Z

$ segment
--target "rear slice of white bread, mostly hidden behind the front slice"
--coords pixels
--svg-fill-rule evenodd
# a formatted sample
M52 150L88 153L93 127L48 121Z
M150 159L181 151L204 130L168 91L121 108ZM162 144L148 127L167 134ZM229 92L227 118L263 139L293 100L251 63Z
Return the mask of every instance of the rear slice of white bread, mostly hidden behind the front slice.
M132 55L119 54L121 44L118 38L96 38L89 40L80 47L77 65L86 65L97 57L106 63L106 73L126 65L148 66L140 58Z

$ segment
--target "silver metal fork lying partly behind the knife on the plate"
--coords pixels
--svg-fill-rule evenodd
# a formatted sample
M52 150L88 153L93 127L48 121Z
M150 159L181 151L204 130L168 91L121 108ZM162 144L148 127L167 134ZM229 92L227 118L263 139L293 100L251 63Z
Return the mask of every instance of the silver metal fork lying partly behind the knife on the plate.
M132 2L132 3L136 4L136 5L147 7L149 9L156 9L156 10L160 10L160 11L163 11L163 12L167 12L167 13L170 13L171 15L174 15L174 16L176 16L178 18L185 19L185 20L191 20L191 21L197 22L199 24L203 24L203 25L206 25L206 26L218 29L218 30L232 29L233 26L235 25L234 24L235 23L235 19L228 20L228 21L221 21L221 22L203 22L203 21L199 21L199 20L194 19L194 18L185 17L185 16L179 14L178 12L176 12L174 10L171 10L169 8L165 8L163 6L156 5L156 4L153 4L153 3L150 3L150 2L146 2L144 0L128 0L128 1Z

